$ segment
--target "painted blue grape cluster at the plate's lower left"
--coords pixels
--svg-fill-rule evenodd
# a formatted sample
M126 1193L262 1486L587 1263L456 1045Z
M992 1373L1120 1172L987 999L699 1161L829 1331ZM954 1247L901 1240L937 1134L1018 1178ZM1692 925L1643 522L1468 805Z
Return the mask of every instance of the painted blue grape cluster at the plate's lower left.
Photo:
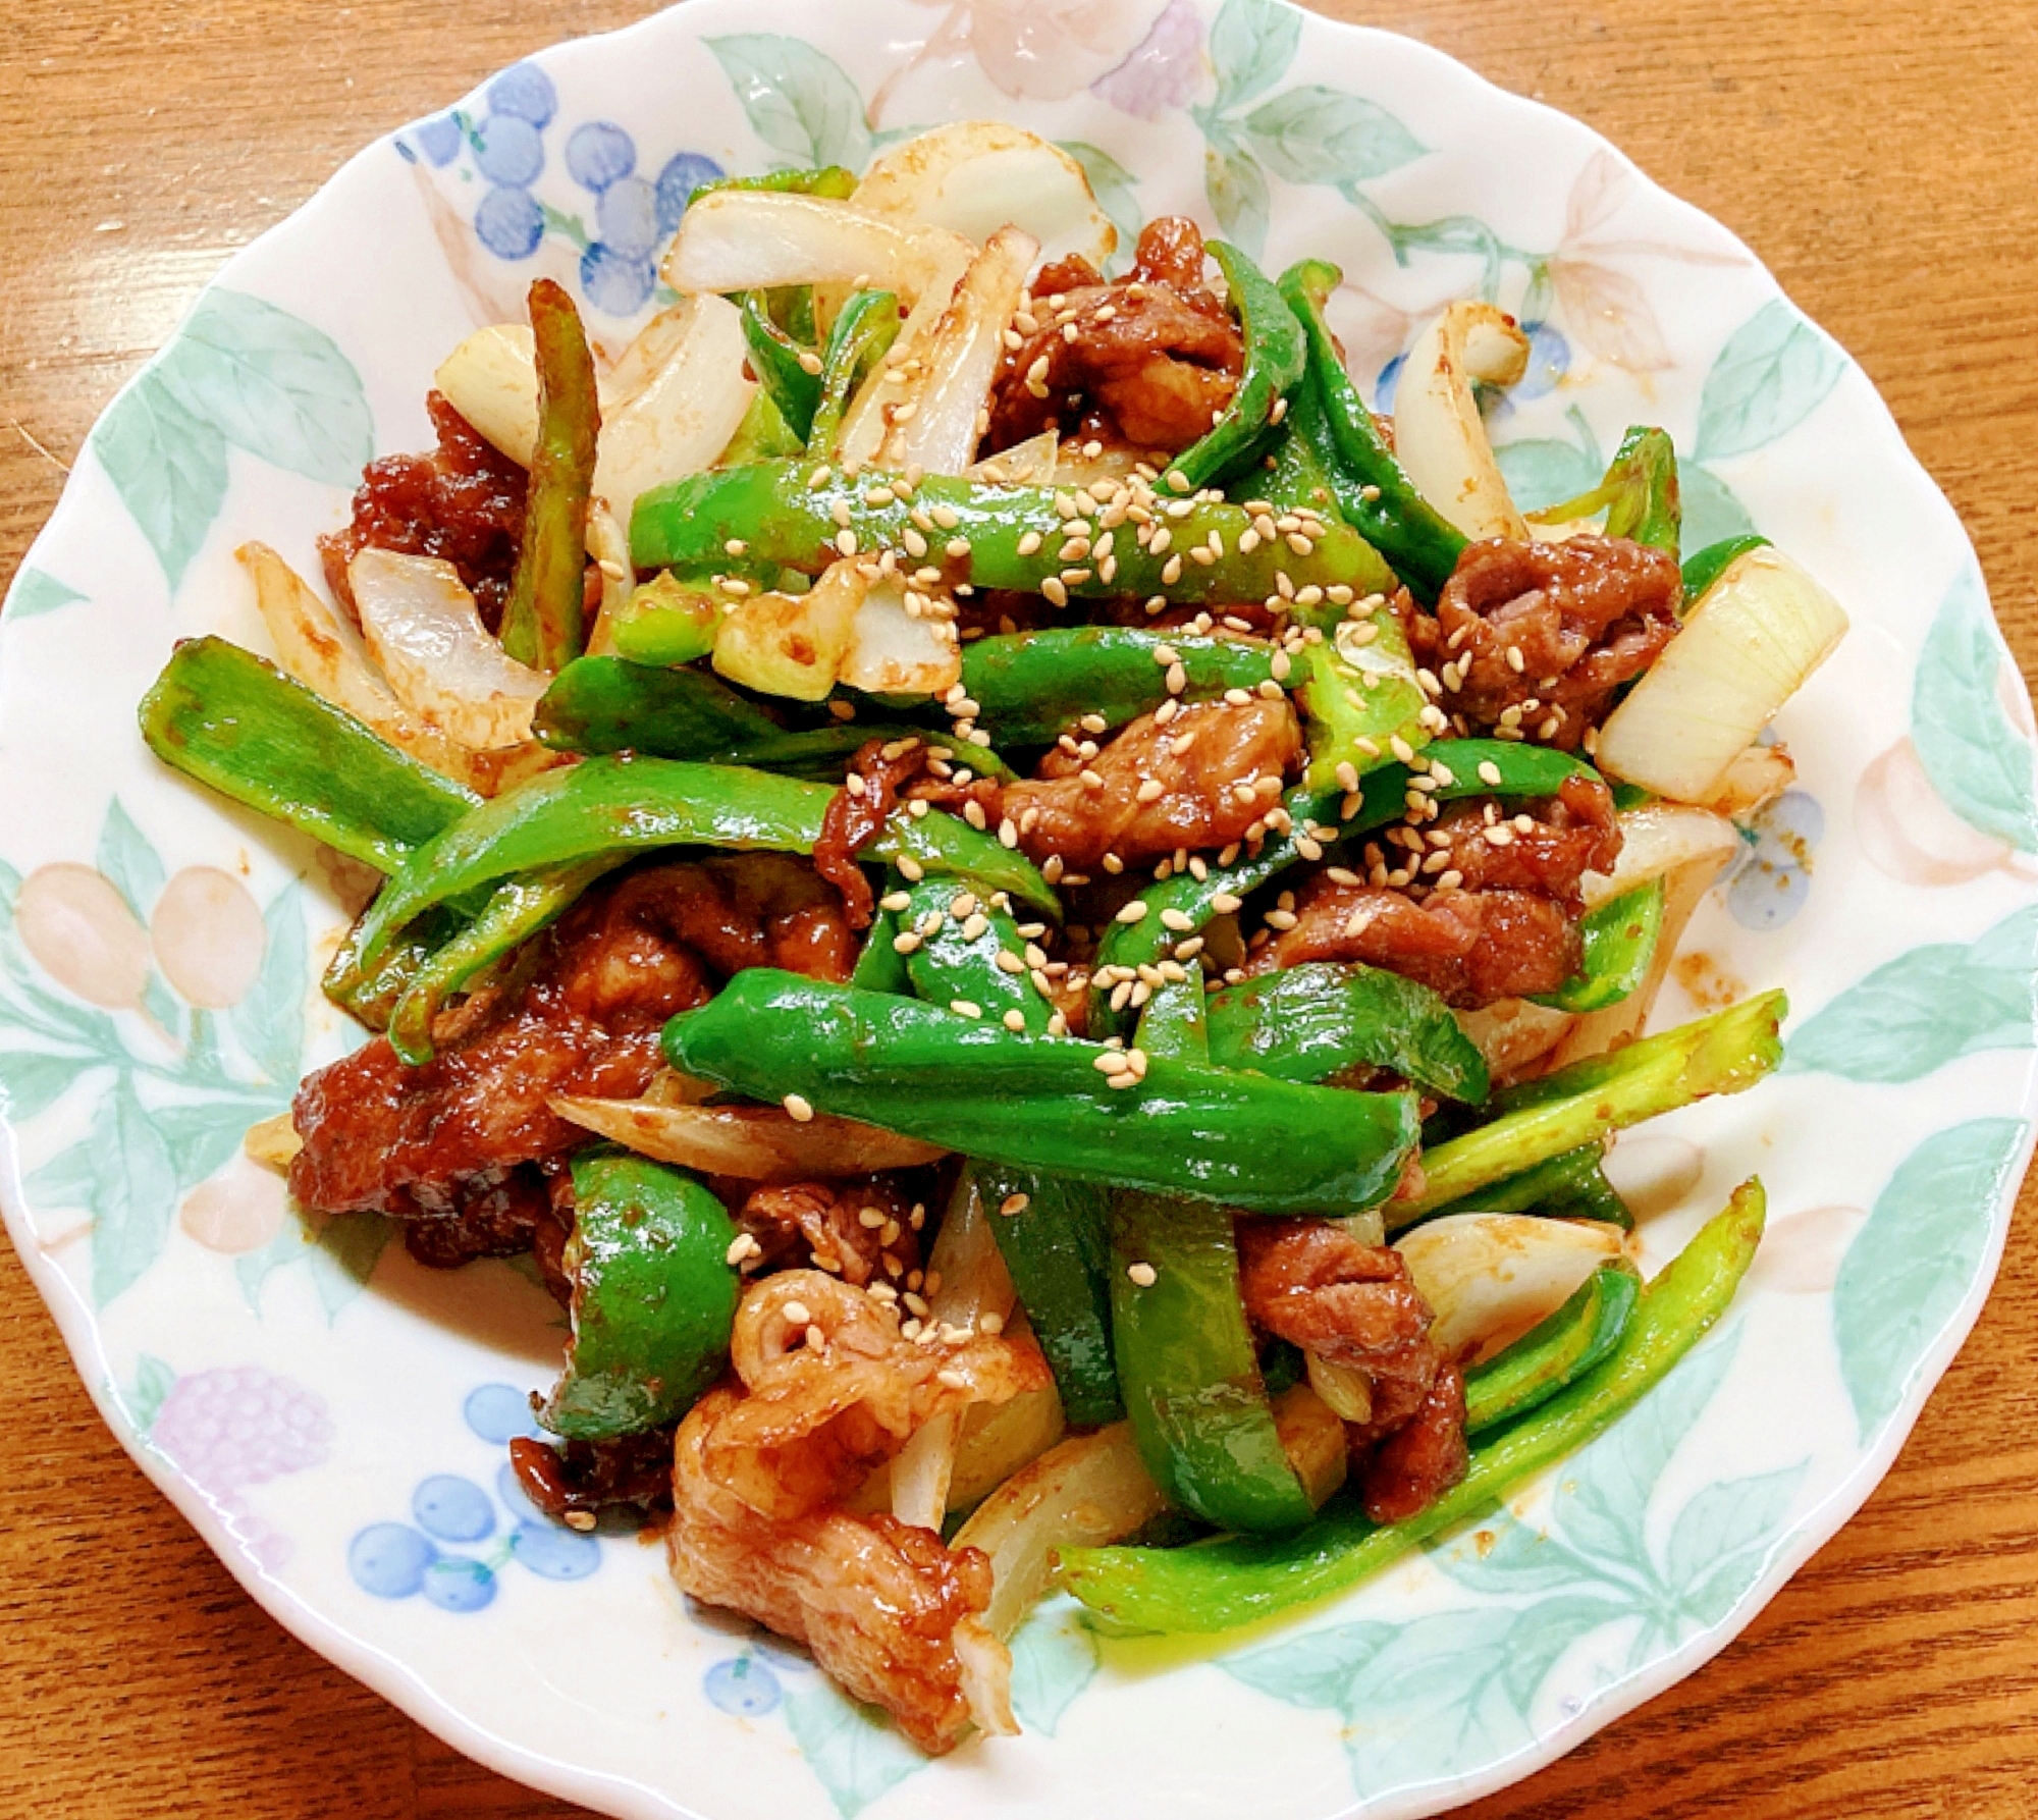
M463 1414L493 1447L538 1433L512 1384L473 1390ZM524 1496L507 1463L495 1474L495 1498L461 1474L420 1480L410 1514L410 1522L371 1522L346 1545L346 1571L363 1592L389 1600L422 1594L442 1612L479 1612L495 1602L497 1577L512 1561L540 1580L585 1580L601 1565L601 1543L552 1522Z

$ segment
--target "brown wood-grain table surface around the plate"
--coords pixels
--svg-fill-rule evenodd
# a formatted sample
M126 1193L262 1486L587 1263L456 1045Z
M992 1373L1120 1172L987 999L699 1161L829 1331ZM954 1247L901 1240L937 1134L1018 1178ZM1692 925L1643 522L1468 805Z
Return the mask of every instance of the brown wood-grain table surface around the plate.
M813 0L823 4L823 0ZM634 0L31 0L0 51L0 583L198 287L377 132ZM2038 4L1323 10L1606 132L1867 367L2038 671ZM2038 1814L2038 1233L1895 1471L1710 1667L1467 1812ZM569 1808L285 1637L114 1445L0 1253L0 1816Z

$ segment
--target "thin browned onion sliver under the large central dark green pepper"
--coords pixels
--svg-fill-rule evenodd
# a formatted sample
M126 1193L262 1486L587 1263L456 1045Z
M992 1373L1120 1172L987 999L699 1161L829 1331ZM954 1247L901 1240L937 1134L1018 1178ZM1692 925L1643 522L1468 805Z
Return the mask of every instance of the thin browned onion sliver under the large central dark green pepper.
M638 1156L744 1182L809 1182L815 1176L913 1170L948 1154L933 1143L878 1131L876 1125L827 1113L795 1119L779 1107L673 1107L577 1094L558 1094L550 1105L560 1119Z

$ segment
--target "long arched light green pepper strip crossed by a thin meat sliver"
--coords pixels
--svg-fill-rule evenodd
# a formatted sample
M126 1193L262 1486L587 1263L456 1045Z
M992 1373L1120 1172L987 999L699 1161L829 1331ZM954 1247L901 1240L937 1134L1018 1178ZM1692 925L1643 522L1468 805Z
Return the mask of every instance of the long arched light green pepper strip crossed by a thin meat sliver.
M373 966L412 917L516 872L673 846L811 854L832 795L827 785L768 770L677 758L589 758L540 772L469 811L404 862L365 919L363 964ZM864 852L966 872L990 891L1060 909L1023 854L952 815L899 813Z

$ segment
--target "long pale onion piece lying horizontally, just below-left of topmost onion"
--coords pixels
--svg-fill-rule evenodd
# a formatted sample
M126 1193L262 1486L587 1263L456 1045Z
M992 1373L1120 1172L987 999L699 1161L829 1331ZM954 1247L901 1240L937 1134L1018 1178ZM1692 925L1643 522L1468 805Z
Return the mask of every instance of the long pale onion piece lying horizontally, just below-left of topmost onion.
M664 255L664 281L683 296L728 296L862 279L911 304L942 273L968 265L974 253L962 234L899 222L848 202L719 190L687 210Z

